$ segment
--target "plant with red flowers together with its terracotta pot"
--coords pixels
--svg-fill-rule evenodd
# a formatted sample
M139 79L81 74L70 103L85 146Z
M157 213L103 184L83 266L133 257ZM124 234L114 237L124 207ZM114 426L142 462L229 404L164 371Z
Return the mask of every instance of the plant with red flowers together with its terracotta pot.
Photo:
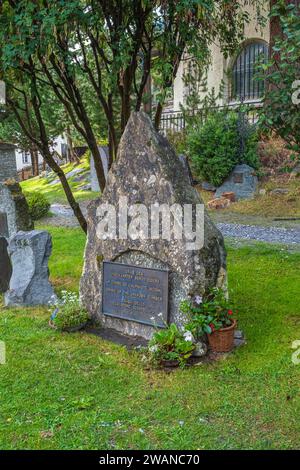
M236 320L232 306L221 289L213 288L205 299L196 296L194 303L183 301L181 311L188 315L186 329L196 338L206 334L214 352L233 349Z

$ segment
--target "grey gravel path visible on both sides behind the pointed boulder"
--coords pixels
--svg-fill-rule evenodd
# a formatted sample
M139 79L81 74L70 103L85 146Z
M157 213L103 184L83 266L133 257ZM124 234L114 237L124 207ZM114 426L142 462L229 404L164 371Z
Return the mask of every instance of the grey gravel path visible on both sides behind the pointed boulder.
M86 213L86 204L81 204L83 213ZM68 206L52 204L49 223L60 226L76 226L77 220ZM299 228L262 227L258 225L242 225L232 223L217 223L219 230L225 237L234 237L241 240L257 240L283 244L300 244Z

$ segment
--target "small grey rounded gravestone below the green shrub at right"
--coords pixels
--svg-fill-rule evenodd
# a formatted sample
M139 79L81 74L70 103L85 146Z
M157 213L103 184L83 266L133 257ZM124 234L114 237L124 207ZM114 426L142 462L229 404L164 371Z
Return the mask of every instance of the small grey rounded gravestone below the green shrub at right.
M217 189L215 198L222 197L223 193L233 192L236 200L253 199L258 186L258 179L254 168L243 164L236 165L229 177Z

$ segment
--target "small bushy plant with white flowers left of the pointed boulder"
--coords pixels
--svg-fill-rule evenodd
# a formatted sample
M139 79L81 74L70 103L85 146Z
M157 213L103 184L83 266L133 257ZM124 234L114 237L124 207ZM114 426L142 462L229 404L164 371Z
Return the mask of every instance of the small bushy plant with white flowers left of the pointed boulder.
M51 314L49 325L71 333L84 328L89 320L90 316L81 305L78 295L62 291L62 297L55 302L55 310Z

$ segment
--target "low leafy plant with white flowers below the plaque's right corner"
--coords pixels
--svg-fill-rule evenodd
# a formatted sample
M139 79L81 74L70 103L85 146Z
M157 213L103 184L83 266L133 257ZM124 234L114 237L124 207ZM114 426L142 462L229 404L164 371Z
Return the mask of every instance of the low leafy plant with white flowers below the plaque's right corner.
M175 323L154 333L149 342L152 361L165 367L185 366L195 348L191 332L181 332Z

